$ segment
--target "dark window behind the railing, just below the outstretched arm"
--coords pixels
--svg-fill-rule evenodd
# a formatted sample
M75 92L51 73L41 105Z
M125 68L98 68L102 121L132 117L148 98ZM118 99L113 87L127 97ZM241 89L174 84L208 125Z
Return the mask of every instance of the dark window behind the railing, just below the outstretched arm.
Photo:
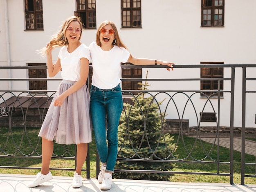
M131 63L122 63L122 65L132 65ZM142 68L122 68L122 78L142 78ZM141 81L122 81L122 90L139 90L141 85L138 83L142 83ZM137 95L139 92L132 92L132 94ZM128 95L128 93L124 92L124 95Z

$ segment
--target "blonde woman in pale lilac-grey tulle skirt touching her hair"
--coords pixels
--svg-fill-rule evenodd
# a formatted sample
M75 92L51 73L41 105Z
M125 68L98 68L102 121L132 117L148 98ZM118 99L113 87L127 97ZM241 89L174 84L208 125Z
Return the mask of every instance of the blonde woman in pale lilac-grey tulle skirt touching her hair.
M90 95L86 86L90 51L80 42L80 18L72 16L63 23L61 30L42 49L47 55L50 77L61 71L63 81L49 106L38 136L42 137L42 168L29 187L36 187L52 179L49 170L53 154L53 140L59 144L76 144L76 170L73 188L82 186L81 170L87 156L87 145L92 142L90 125ZM56 63L52 62L52 49L61 47Z

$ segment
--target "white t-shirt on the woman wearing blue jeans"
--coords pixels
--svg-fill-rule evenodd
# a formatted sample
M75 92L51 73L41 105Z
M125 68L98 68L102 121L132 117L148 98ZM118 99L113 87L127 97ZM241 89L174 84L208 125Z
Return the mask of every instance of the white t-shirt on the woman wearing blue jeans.
M89 45L92 56L92 85L99 89L112 89L121 82L121 63L126 63L130 53L124 47L115 45L110 51L103 51L96 42Z

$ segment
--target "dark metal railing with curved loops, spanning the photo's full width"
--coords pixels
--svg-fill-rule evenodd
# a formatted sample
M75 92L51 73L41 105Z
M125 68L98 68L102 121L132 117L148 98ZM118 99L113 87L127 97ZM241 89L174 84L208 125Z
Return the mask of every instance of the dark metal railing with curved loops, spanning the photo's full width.
M91 66L90 66L91 67ZM123 110L123 119L121 123L126 125L126 129L124 129L123 137L119 138L119 152L118 152L118 159L117 161L120 162L158 162L158 163L201 163L201 164L213 164L216 165L216 170L214 172L197 172L197 171L191 171L191 172L177 172L177 171L172 171L172 170L132 170L132 169L117 169L115 172L135 172L135 173L140 173L140 172L146 172L146 173L161 173L161 174L201 174L201 175L216 175L216 176L229 176L229 182L233 184L233 177L234 177L234 96L235 96L235 72L237 68L242 68L243 69L243 85L242 85L242 90L239 90L243 94L242 98L242 130L241 130L241 138L242 138L242 159L241 159L241 184L244 184L244 179L245 177L256 177L256 174L245 174L245 166L254 166L256 167L256 163L247 163L245 159L245 133L246 133L246 120L245 120L245 114L246 114L246 94L255 94L256 89L246 91L246 85L248 81L254 81L256 80L256 75L253 78L247 78L246 77L246 70L251 69L251 68L256 68L255 64L214 64L214 65L175 65L174 69L200 69L202 67L207 67L207 68L215 68L215 67L223 67L224 69L230 69L230 77L228 78L164 78L164 79L149 79L149 78L144 78L144 79L121 79L122 81L126 80L131 80L131 81L147 81L147 82L153 82L153 81L161 81L161 82L168 82L172 83L175 81L182 81L184 83L189 83L191 81L195 82L200 82L201 80L216 80L218 81L218 87L220 87L220 82L229 82L225 83L225 89L221 90L202 90L195 89L192 90L190 87L187 89L176 89L176 90L171 90L170 88L167 89L148 89L148 90L123 90L124 93L126 93L132 98L132 101L130 105L126 105ZM0 69L7 69L7 70L12 70L12 69L46 69L46 66L14 66L14 67L6 67L6 66L0 66ZM159 66L159 65L148 65L148 66L138 66L138 65L121 65L121 68L165 68L164 66ZM59 78L42 78L42 79L28 79L28 78L12 78L12 79L4 79L1 78L0 81L20 81L20 80L61 80ZM184 85L186 85L184 84ZM183 86L184 87L184 86ZM255 87L254 87L255 88ZM15 93L19 92L18 95ZM43 93L40 90L37 90L37 94L30 94L29 90L0 90L0 103L6 103L6 100L4 99L4 96L6 94L11 94L13 97L16 98L16 106L21 108L22 111L22 119L23 119L23 124L24 126L22 134L21 134L21 140L24 140L24 138L27 138L29 145L31 146L31 152L25 154L22 152L21 149L21 143L17 144L16 141L13 140L13 114L14 112L11 110L14 110L15 107L11 106L6 106L6 112L7 112L7 117L9 121L9 127L8 127L8 135L6 138L5 142L2 142L0 145L0 157L35 157L35 158L40 158L41 155L40 153L37 152L38 147L40 145L40 138L38 138L38 142L36 146L32 146L29 134L27 132L27 116L29 113L29 108L27 109L22 109L22 103L19 100L19 97L22 96L22 94L25 94L26 96L30 96L31 99L29 103L37 103L36 101L36 96L39 95L44 95L44 97L48 98L48 100L51 100L52 95L55 93L55 90L47 90L47 92L52 92L50 96L47 94ZM132 94L134 92L137 92L138 94ZM211 96L207 96L207 92L211 92ZM220 139L221 139L221 133L220 133L220 127L221 127L221 107L222 106L222 96L221 93L227 93L225 94L225 98L229 98L230 100L230 109L229 109L229 116L230 116L230 122L229 122L229 127L230 127L230 132L229 132L229 138L230 138L230 147L229 147L229 156L230 159L229 161L222 161L222 157L220 156ZM202 105L202 108L198 107L198 99L195 98L202 98L201 95L204 95L204 101L205 103L202 103L203 101L200 100L200 105ZM141 105L139 99L140 97L143 96L143 98L148 98L149 102L148 108L146 111L142 109L144 106ZM162 102L164 98L164 102ZM197 100L197 101L194 101ZM160 101L159 101L160 100ZM18 105L17 105L18 103ZM7 105L7 103L6 103ZM29 106L30 104L28 104ZM148 121L149 121L149 113L150 113L150 107L154 107L157 109L158 115L157 118L159 119L159 125L157 129L157 137L159 138L158 141L151 141L150 140L150 134L153 133L148 133ZM46 106L46 105L45 105ZM43 118L46 114L47 107L38 107L36 109L39 113L40 116L40 123L43 122ZM204 144L202 143L201 137L202 137L202 132L200 131L200 128L202 126L201 118L202 114L204 112L204 109L207 108L207 106L211 108L211 111L216 114L216 132L212 134L212 137L215 139L215 143L212 144L211 148L207 149L204 147ZM130 108L128 108L130 107ZM131 137L131 132L135 131L134 127L130 125L130 121L132 121L133 116L131 115L132 110L137 107L139 116L142 118L142 125L140 128L140 136L137 138L137 144L134 145L133 139ZM184 141L184 121L186 120L186 111L191 110L194 112L194 120L197 122L197 125L195 126L195 134L193 135L194 143L191 146L186 146L185 141ZM200 110L199 110L200 108ZM168 112L171 111L171 114L168 115ZM198 115L200 114L200 115ZM171 116L170 118L173 118L172 116L177 117L177 121L179 123L178 127L178 132L177 132L177 137L173 138L171 143L166 142L168 140L168 134L169 136L172 135L172 127L166 128L166 116ZM1 117L0 117L1 119ZM1 122L1 121L0 121ZM0 123L0 127L2 127ZM136 129L136 127L135 127ZM139 129L139 128L138 128ZM120 132L120 131L119 131ZM166 135L167 134L167 135ZM8 153L6 152L8 142L13 141L15 145L15 151ZM170 140L168 140L170 141ZM172 145L171 145L172 144ZM145 150L145 146L147 147L147 154L142 155L142 150ZM193 151L195 150L196 146L200 146L202 148L202 154L194 154ZM185 150L187 155L180 157L179 154L176 153L177 148L181 148L182 150ZM125 153L126 151L129 151L129 153ZM159 150L164 152L163 155L159 155ZM17 155L20 154L20 155ZM75 159L75 152L72 151L70 152L69 146L64 146L64 152L63 154L54 154L53 158L70 158L70 159ZM87 169L83 171L87 171L87 177L90 178L90 154L88 150L88 157L86 160L86 165ZM229 166L229 172L222 172L221 167L222 166ZM21 168L21 169L40 169L39 167L12 167L12 166L0 166L0 168ZM54 170L70 170L70 169L64 169L64 168L52 168ZM73 169L72 169L73 170ZM97 156L97 175L99 173L100 167L99 167L99 157Z

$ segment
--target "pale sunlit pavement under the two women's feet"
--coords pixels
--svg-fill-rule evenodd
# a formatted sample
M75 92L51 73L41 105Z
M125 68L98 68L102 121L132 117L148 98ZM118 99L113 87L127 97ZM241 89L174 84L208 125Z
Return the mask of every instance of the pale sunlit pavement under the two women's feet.
M81 188L72 188L72 177L54 176L51 181L35 188L27 185L34 175L0 174L1 192L101 192L96 179L84 179ZM256 192L256 185L228 183L177 183L168 181L141 181L113 179L106 192Z

